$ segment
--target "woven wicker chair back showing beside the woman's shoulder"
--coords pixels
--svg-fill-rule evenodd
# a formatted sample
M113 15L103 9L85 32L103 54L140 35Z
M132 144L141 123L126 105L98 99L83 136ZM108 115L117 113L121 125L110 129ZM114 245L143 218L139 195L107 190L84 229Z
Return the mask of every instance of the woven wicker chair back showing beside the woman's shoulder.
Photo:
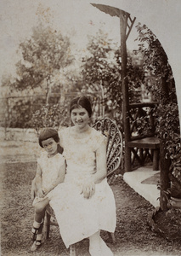
M122 161L122 133L110 118L99 119L93 128L107 137L107 177L119 168Z

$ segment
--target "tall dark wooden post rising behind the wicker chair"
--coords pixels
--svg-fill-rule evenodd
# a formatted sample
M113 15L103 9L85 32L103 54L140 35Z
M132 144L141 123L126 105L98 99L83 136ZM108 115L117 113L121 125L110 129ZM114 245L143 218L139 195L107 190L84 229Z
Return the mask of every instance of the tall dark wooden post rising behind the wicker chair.
M131 171L131 150L128 148L130 138L130 124L128 116L129 96L127 84L127 13L120 10L121 55L122 55L122 101L123 101L123 129L125 138L125 172Z

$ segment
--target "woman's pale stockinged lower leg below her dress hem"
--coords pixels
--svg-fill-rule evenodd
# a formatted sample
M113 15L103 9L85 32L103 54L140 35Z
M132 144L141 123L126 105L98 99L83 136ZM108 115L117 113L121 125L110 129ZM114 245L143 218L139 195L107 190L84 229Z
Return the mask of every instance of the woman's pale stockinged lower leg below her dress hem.
M89 253L91 256L113 256L110 248L107 247L99 234L100 231L89 237Z

